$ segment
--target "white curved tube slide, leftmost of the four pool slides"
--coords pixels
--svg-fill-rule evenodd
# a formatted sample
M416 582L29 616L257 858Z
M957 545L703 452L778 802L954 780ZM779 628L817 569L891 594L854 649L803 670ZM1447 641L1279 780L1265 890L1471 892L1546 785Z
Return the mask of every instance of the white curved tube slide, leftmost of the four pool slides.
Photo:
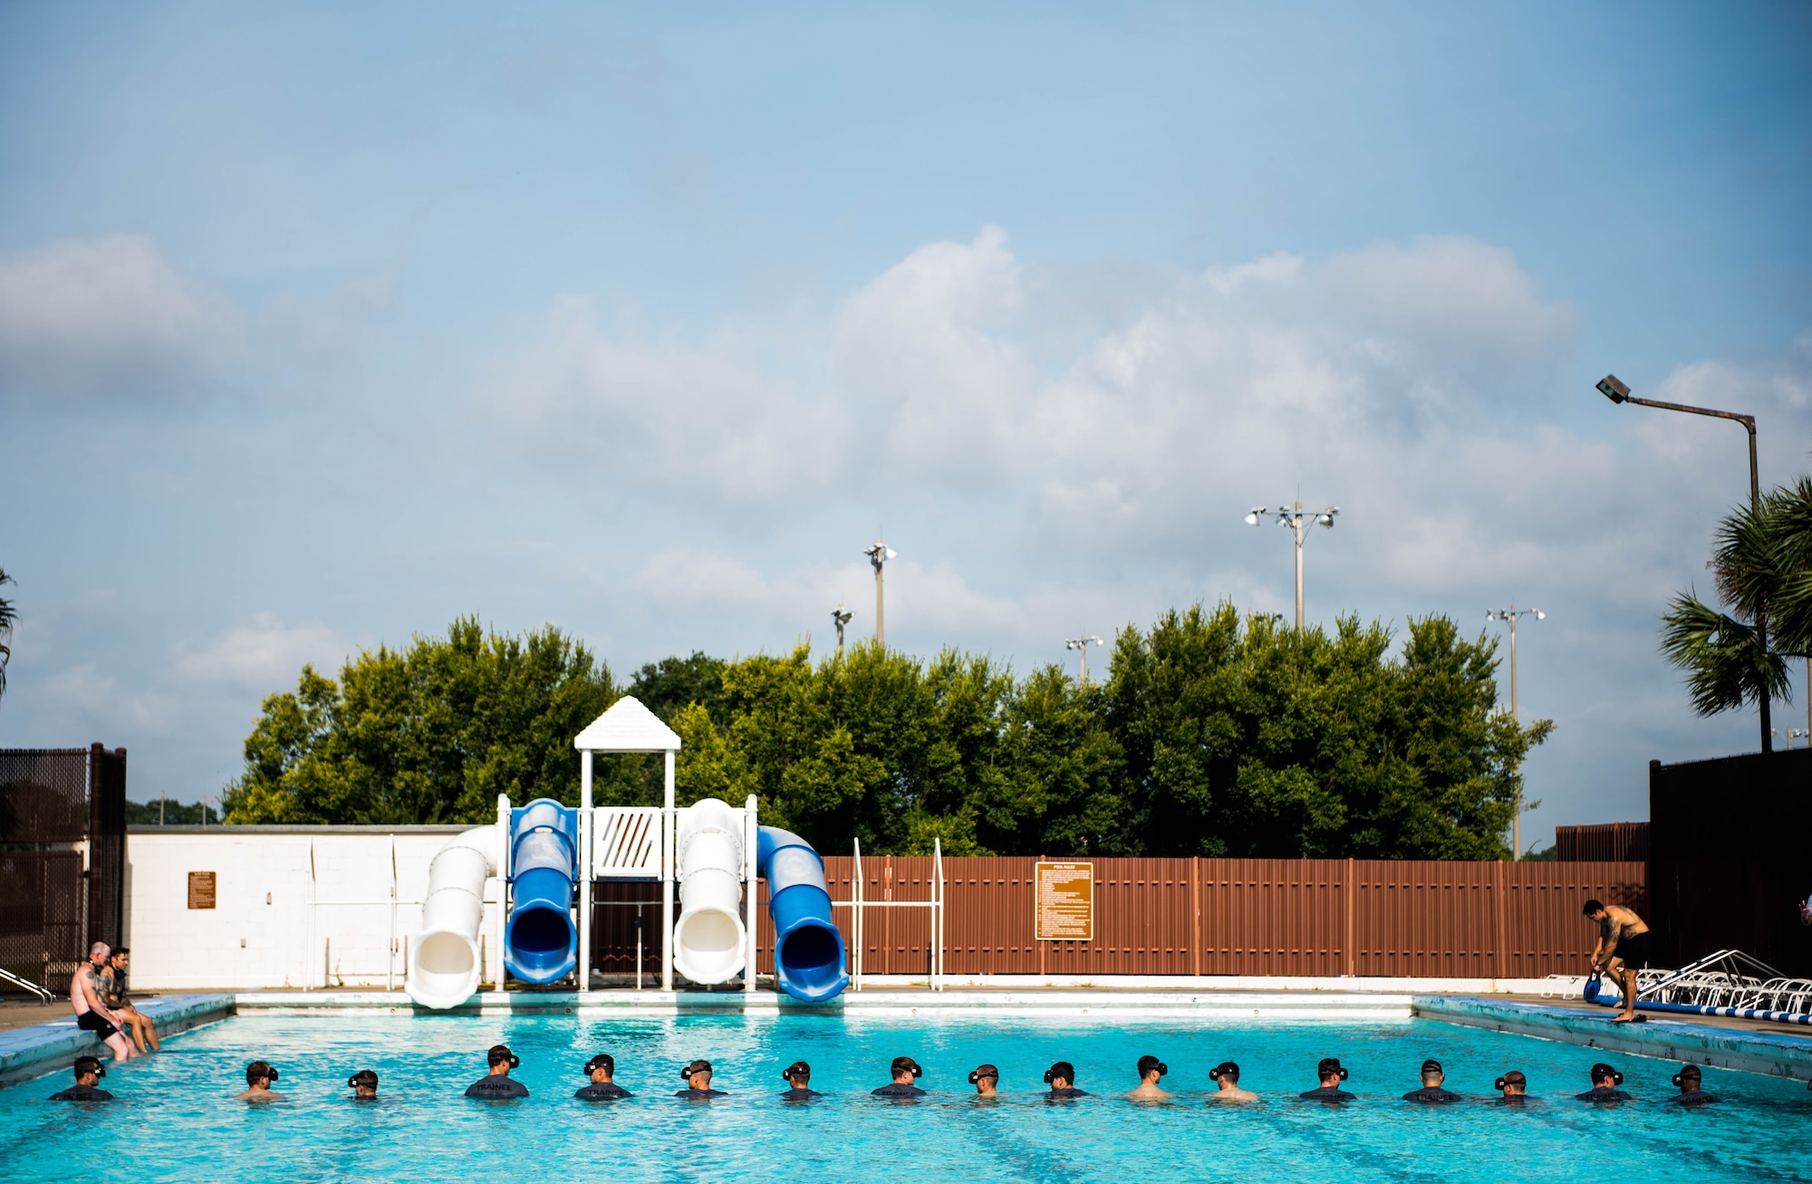
M402 988L422 1007L458 1007L478 990L478 921L484 882L496 874L495 826L478 826L448 840L428 865L422 932L410 945Z

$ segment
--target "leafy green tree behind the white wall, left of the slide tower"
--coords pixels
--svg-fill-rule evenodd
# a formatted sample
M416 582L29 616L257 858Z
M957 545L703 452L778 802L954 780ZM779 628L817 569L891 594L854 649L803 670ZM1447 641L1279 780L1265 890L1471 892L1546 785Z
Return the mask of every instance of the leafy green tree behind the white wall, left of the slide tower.
M573 737L616 699L609 668L545 626L486 634L460 617L444 639L304 666L270 695L223 806L245 822L484 822L496 795L578 802Z

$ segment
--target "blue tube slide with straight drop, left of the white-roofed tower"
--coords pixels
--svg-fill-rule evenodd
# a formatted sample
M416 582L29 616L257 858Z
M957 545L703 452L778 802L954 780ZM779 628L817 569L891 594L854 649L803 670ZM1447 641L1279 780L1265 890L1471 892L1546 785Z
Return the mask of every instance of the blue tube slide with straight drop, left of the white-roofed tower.
M573 882L578 878L578 811L535 798L509 811L513 907L504 927L504 967L524 983L558 983L578 965Z

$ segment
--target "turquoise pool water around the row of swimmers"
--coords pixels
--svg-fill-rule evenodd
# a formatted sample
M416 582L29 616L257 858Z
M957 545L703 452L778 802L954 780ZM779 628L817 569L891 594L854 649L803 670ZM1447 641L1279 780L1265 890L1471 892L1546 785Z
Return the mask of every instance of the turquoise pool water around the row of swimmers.
M484 1074L484 1050L507 1043L533 1097L460 1097ZM573 1099L580 1066L611 1052L638 1097ZM1134 1063L1171 1065L1172 1104L1136 1104ZM895 1055L928 1070L931 1097L886 1103ZM1339 1055L1359 1103L1294 1101L1314 1063ZM1663 1108L1674 1065L1607 1055L1640 1101L1573 1103L1589 1048L1433 1021L1368 1026L1294 1023L1181 1028L1169 1021L1002 1021L980 1017L685 1019L553 1017L236 1017L176 1037L167 1052L114 1070L123 1101L43 1101L69 1074L0 1090L0 1180L1580 1180L1609 1166L1618 1180L1812 1180L1812 1092L1805 1083L1705 1070L1723 1106ZM245 1063L279 1066L281 1104L230 1101ZM681 1103L678 1068L708 1057L730 1097ZM779 1070L812 1063L830 1097L776 1101ZM1256 1106L1207 1106L1207 1070L1239 1061ZM1424 1057L1448 1088L1477 1101L1412 1106ZM1096 1097L1038 1099L1040 1075L1073 1061ZM977 1103L968 1070L993 1061L1006 1097ZM382 1103L346 1101L346 1077L375 1068ZM1488 1101L1508 1068L1537 1099Z

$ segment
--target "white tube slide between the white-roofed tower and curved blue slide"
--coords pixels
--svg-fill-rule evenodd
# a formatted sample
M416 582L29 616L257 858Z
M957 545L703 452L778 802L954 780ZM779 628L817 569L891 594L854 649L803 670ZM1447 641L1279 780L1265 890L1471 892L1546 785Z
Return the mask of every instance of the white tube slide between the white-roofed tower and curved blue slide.
M674 969L694 983L725 983L743 970L743 822L727 802L680 811L680 920Z

